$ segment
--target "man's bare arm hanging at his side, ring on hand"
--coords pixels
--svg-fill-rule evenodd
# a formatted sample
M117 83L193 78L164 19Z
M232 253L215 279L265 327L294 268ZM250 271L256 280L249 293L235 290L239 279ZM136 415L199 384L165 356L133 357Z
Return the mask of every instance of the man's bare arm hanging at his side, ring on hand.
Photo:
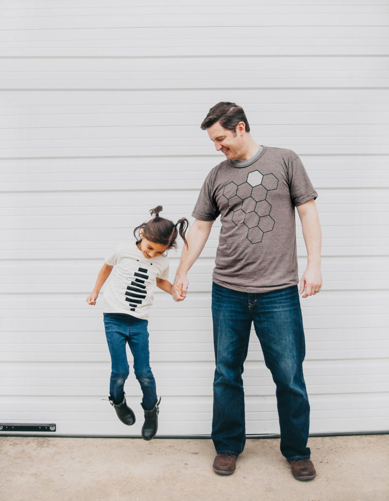
M300 294L305 290L303 298L314 295L321 289L321 230L314 200L308 200L297 206L301 220L302 234L308 253L307 267L301 277Z

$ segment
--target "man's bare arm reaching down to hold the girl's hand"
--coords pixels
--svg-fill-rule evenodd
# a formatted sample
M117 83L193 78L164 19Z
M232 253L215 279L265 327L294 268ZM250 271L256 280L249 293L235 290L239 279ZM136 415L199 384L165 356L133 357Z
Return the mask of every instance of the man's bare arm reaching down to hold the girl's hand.
M193 263L200 256L205 242L209 237L209 233L211 232L213 223L214 221L196 219L192 224L188 236L186 237L188 248L184 245L176 278L173 282L172 296L174 301L183 301L185 299L189 283L186 275Z

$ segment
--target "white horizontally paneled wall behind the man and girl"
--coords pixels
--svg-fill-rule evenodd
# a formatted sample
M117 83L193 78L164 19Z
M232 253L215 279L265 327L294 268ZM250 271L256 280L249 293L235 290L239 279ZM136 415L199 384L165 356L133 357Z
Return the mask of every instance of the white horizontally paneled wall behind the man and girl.
M134 4L0 2L0 422L140 434L134 377L132 428L101 400L110 361L101 309L85 298L105 254L150 208L189 217L223 158L199 124L228 100L244 107L259 143L300 155L319 192L324 286L302 301L311 432L387 429L387 3ZM210 433L219 229L188 299L155 301L161 435ZM302 273L300 227L297 236ZM277 433L255 336L244 381L247 432Z

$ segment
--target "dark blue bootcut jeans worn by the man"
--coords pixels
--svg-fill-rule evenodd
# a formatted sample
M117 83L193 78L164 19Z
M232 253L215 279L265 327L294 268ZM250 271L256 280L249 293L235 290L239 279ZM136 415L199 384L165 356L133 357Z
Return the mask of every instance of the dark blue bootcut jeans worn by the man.
M281 452L309 458L309 402L302 362L305 340L297 286L260 294L212 284L215 348L212 440L218 453L239 455L245 444L243 363L251 323L276 384Z

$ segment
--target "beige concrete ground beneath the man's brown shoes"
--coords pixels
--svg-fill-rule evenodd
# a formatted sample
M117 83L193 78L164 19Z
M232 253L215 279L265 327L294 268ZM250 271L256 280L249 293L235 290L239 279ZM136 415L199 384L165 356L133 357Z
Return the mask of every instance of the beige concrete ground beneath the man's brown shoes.
M295 480L279 439L249 439L231 476L205 439L0 437L2 501L388 501L389 435L310 438Z

